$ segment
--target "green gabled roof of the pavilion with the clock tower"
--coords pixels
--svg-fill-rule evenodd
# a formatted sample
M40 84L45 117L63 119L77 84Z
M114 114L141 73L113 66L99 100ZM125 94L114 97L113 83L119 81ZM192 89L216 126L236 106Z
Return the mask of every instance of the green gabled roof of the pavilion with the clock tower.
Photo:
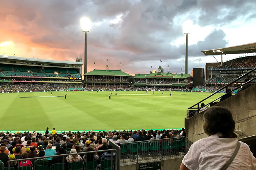
M188 78L190 77L189 74L171 74L169 72L167 73L150 73L150 74L135 74L134 78Z

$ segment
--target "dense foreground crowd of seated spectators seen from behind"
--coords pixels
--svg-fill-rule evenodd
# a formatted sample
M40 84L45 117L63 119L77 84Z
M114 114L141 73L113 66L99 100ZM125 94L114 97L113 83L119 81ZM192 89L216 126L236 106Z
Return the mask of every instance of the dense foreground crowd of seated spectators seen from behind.
M97 161L98 164L106 159L111 159L108 152L99 152L113 148L112 142L117 145L134 141L152 141L156 139L166 140L167 138L187 137L185 129L182 130L124 130L124 131L83 131L83 132L63 132L57 133L55 128L49 131L46 128L44 134L36 131L16 132L16 134L0 133L0 158L1 162L7 165L9 160L18 160L26 158L36 158L44 156L53 156L61 154L74 154L80 152L98 151L96 153L80 155L68 155L65 157L65 163L79 161ZM111 142L109 142L111 141ZM172 142L171 141L171 142ZM101 157L99 157L101 156ZM115 159L116 154L112 157ZM61 158L61 157L60 157ZM35 165L49 165L62 163L59 157L49 157L37 159L33 162ZM61 158L62 159L62 158ZM101 160L99 160L101 159ZM61 161L61 162L60 162ZM17 161L19 162L19 161ZM26 163L25 163L26 162ZM11 166L33 166L31 161L22 161L12 163ZM100 165L99 165L100 166Z

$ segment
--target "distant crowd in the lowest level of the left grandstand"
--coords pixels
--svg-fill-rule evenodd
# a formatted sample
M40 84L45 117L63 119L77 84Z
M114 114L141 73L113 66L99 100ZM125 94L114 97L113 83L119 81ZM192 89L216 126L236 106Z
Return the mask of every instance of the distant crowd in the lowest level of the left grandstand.
M0 84L0 91L55 91L55 90L69 90L69 88L83 88L76 84Z

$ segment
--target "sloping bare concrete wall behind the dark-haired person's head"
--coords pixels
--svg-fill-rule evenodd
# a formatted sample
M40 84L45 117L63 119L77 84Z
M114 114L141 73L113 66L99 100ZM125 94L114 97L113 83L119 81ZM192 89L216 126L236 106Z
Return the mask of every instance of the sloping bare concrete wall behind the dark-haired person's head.
M240 134L237 134L239 139L256 135L256 84L215 106L226 107L232 112L236 122L235 130L240 131ZM203 130L202 113L185 118L187 136L192 142L207 137Z

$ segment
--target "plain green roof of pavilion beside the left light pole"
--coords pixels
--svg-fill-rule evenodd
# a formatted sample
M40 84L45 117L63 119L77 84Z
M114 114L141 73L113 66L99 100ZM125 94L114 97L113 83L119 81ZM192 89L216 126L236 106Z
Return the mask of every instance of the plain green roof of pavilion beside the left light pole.
M131 76L121 70L93 70L83 75L105 75L105 76Z

